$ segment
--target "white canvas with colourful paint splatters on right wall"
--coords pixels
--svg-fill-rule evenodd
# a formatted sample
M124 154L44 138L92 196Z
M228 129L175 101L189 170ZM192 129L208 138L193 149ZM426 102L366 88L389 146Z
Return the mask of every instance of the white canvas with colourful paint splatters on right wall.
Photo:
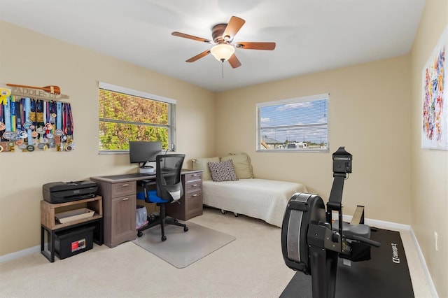
M422 73L421 148L448 150L448 27Z

